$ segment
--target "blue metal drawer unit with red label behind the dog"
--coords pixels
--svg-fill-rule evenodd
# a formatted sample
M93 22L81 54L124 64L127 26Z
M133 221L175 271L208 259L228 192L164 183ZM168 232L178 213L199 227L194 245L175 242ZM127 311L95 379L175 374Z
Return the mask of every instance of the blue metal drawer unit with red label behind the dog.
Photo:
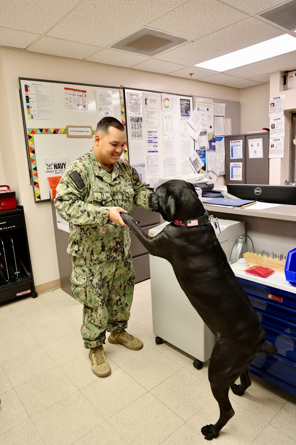
M296 294L237 277L257 312L275 356L259 354L249 371L296 396Z

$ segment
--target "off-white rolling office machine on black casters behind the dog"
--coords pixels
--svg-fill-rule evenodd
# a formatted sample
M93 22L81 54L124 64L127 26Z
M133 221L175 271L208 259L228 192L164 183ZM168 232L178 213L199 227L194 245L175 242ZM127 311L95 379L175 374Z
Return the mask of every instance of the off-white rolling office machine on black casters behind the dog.
M218 222L221 227L219 241L229 260L237 239L245 234L245 223L225 219L218 219ZM167 224L150 229L149 235L157 235ZM182 291L171 264L153 255L149 255L149 260L155 341L160 344L166 340L196 357L193 365L201 369L202 362L211 356L215 337Z

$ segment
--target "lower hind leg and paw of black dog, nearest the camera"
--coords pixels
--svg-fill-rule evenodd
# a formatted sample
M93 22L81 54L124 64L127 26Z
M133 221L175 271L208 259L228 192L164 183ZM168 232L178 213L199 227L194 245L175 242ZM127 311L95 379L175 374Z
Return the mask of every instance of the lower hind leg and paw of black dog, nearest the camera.
M234 416L234 410L228 398L229 385L224 386L221 385L221 382L216 381L211 383L211 389L219 405L220 417L215 425L205 425L201 428L201 433L208 441L212 440L213 437L218 437L221 428Z

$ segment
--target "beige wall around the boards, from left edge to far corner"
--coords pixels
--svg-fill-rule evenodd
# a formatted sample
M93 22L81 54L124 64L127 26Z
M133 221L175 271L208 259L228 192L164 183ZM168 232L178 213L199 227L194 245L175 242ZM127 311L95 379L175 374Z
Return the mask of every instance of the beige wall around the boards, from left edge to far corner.
M18 77L95 85L123 85L239 101L239 90L236 88L0 47L0 160L3 163L2 169L0 162L0 183L7 183L12 190L16 190L17 202L24 206L36 285L58 279L59 270L50 202L35 204L29 182Z

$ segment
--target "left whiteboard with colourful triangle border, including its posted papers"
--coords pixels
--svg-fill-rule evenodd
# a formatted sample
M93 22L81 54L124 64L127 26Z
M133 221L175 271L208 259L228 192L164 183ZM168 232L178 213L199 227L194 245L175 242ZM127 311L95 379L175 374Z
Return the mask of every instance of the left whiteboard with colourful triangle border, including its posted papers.
M47 166L55 166L56 172L65 160L71 162L91 150L95 129L102 117L114 116L126 126L124 93L121 88L102 85L19 80L34 199L36 203L49 201ZM81 133L89 131L90 135L68 138L67 126L77 127L75 131ZM128 160L127 147L122 157Z

